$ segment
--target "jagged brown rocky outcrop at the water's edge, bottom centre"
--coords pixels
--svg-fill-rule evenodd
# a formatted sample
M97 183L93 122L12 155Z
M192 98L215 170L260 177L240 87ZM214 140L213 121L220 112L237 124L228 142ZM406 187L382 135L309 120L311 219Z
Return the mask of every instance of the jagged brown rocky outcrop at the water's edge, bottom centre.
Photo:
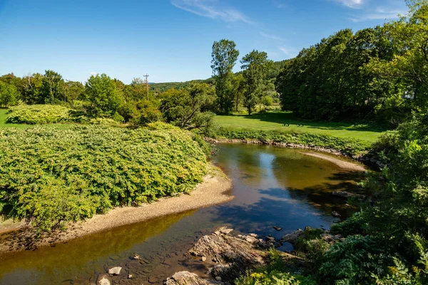
M233 229L222 227L213 234L208 234L195 243L185 256L188 261L200 262L198 266L208 269L207 276L198 276L188 271L180 271L166 279L164 284L234 284L245 271L257 269L268 263L269 254L265 250L278 242L273 237L261 239L257 234L231 235ZM278 252L287 268L300 270L305 259L285 252ZM205 278L203 278L205 277Z

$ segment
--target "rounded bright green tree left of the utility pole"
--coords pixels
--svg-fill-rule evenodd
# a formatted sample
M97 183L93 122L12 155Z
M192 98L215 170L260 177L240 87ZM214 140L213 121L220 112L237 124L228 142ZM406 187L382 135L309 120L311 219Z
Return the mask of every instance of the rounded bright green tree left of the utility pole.
M91 76L85 85L86 100L91 103L93 116L108 115L113 117L123 104L123 93L116 86L116 81L106 74Z

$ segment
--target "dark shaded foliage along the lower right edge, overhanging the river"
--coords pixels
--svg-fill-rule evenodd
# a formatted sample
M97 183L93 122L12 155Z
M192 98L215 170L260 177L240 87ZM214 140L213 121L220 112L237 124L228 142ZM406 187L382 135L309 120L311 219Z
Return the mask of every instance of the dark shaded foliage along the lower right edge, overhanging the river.
M364 184L374 193L371 201L333 228L348 237L326 252L319 270L322 281L427 283L427 123L427 114L414 114L379 142L388 166Z

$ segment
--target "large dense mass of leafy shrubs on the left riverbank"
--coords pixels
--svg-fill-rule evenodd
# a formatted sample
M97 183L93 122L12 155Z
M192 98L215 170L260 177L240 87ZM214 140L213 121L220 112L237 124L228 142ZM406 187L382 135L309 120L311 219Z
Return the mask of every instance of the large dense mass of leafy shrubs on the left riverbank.
M206 156L183 130L155 123L0 130L0 211L41 231L193 190Z

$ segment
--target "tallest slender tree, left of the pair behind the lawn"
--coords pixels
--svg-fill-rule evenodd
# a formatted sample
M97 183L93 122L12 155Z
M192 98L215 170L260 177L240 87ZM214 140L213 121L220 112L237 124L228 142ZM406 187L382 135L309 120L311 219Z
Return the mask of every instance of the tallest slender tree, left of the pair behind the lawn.
M232 69L238 60L239 51L234 41L222 39L215 41L211 57L211 68L215 78L215 93L217 94L220 113L230 113L233 108L233 90L230 83Z

